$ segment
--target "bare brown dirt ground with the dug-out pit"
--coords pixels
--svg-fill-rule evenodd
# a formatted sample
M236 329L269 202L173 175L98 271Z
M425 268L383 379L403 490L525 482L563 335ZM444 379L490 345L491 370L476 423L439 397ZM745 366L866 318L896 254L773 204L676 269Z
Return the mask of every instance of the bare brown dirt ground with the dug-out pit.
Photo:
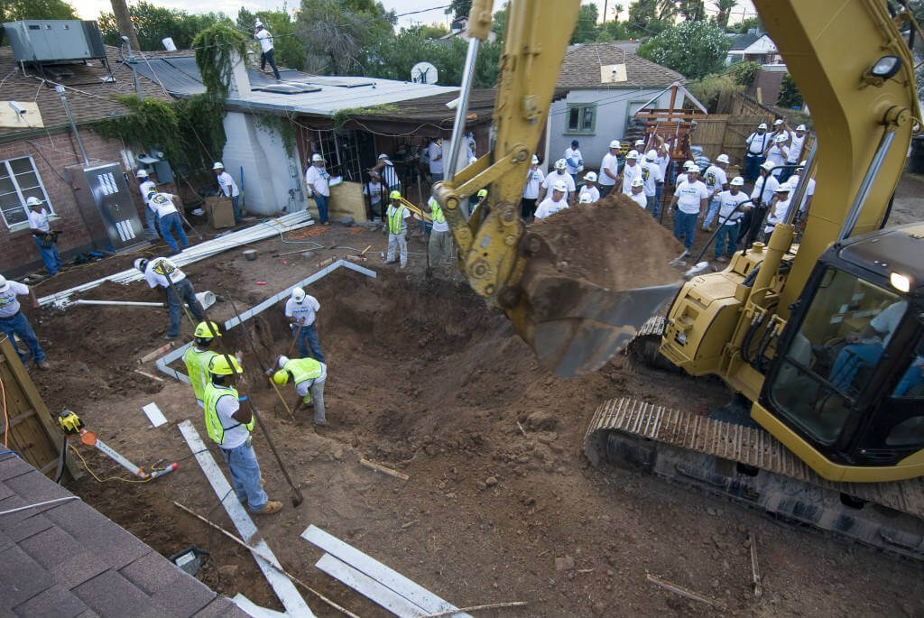
M371 279L341 269L308 289L321 303L330 424L315 428L307 414L288 418L274 392L261 378L252 379L259 362L235 333L239 329L228 342L245 350L251 399L305 496L298 508L287 500L282 473L256 431L267 491L285 503L279 515L256 523L286 569L312 588L359 615L390 615L314 568L321 551L298 538L310 524L458 606L529 602L480 614L485 616L924 612L918 565L658 479L596 469L581 454L590 416L604 401L628 395L706 414L730 397L721 383L640 367L626 357L577 380L554 378L540 369L509 322L485 309L468 287L424 278L419 240L411 239L410 265L398 271L378 258L385 245L381 231L332 225L311 238L328 247L358 248L356 253L371 246L364 265L378 273ZM347 252L274 257L298 248L276 238L254 247L257 261L244 261L236 251L185 270L197 291L231 290L243 310L316 272L324 258ZM152 296L143 284L129 288L135 291L125 297ZM225 320L233 311L223 301L210 315ZM183 503L232 529L176 430L189 418L205 435L188 386L166 378L152 382L131 371L137 357L164 343L164 309L75 307L63 313L44 309L38 317L36 330L53 371L33 375L52 410L74 409L137 464L179 464L152 483L97 483L85 476L71 489L166 556L188 545L210 551L200 573L206 584L280 610L246 551L172 505ZM254 323L250 332L263 362L271 351L286 350L281 306ZM188 329L184 325L186 335ZM152 364L143 369L153 371ZM286 388L291 401L294 393ZM140 411L152 401L169 421L157 429ZM98 476L127 477L102 454L79 449ZM213 444L210 449L220 461ZM360 456L410 479L362 467ZM749 588L748 532L758 542L760 599ZM646 583L648 572L728 610L713 611L656 588ZM305 598L319 616L341 615L308 593Z

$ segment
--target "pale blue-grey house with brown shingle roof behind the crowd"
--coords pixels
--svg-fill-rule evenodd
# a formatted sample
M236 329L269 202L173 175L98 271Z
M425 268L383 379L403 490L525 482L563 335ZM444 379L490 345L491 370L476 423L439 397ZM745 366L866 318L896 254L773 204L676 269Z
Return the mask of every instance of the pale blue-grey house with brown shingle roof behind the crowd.
M550 161L560 158L572 139L589 166L602 160L613 139L626 136L632 115L674 82L685 82L669 68L627 52L617 44L590 43L573 47L562 63L557 88L567 91L549 112ZM664 92L655 106L667 107Z

